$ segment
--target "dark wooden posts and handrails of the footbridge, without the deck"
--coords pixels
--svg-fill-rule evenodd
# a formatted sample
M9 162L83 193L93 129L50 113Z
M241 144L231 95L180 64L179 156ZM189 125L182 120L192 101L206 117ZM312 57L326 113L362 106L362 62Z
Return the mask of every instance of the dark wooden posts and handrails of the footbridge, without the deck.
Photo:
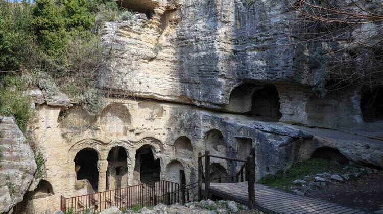
M241 162L244 163L240 170L234 176L231 177L231 182L243 182L244 173L245 181L248 182L248 197L249 197L249 209L255 208L255 160L254 160L254 148L252 149L250 155L243 159L236 159L231 157L223 157L217 155L211 155L209 151L205 151L205 154L202 155L201 152L198 153L198 200L210 198L210 158L219 158L225 159L226 161L231 162ZM203 169L202 158L205 158L205 170ZM244 172L245 169L245 172ZM236 180L234 180L236 178ZM202 183L204 183L204 192L202 192Z

